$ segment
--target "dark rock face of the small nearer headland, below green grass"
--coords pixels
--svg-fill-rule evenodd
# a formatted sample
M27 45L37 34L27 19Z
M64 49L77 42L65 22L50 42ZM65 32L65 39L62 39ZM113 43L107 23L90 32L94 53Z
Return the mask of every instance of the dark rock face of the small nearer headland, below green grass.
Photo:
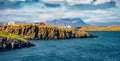
M8 50L8 49L18 49L23 47L34 46L29 43L27 40L19 40L15 38L0 36L0 51Z

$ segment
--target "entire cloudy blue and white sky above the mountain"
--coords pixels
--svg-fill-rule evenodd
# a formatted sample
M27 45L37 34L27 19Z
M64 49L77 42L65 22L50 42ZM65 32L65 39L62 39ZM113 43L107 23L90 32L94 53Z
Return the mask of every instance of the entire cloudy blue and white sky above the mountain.
M0 0L0 22L81 18L90 25L120 25L120 0Z

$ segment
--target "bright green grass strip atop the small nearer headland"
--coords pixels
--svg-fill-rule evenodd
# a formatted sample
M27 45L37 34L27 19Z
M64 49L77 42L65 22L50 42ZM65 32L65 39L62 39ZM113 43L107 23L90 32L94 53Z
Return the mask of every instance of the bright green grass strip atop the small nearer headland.
M24 40L24 36L17 35L17 34L11 34L11 33L4 32L4 31L0 31L0 36L15 38L15 39L19 39L19 40Z

